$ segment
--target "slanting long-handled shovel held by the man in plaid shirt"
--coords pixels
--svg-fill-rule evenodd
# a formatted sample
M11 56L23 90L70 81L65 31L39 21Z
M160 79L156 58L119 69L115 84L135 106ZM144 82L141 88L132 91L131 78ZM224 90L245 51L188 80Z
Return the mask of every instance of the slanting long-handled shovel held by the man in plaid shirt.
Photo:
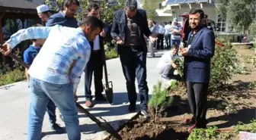
M1 47L1 45L0 45ZM13 58L15 61L18 61L19 64L21 64L23 67L26 67L27 69L29 68L29 65L27 65L26 63L24 63L24 61L21 60L21 58L18 58L18 56L16 56L15 54L8 54L11 58ZM122 140L121 136L118 134L118 132L112 127L110 126L109 123L107 123L106 120L104 120L104 123L102 123L100 120L98 120L96 117L94 117L92 114L89 113L88 110L86 110L84 107L82 107L80 104L75 103L76 107L78 107L78 109L80 109L83 113L85 113L91 120L93 120L95 123L97 123L97 125L104 131L110 133L110 135L114 136L115 138L117 138L118 140ZM101 117L100 117L101 118ZM101 118L101 120L103 120Z

